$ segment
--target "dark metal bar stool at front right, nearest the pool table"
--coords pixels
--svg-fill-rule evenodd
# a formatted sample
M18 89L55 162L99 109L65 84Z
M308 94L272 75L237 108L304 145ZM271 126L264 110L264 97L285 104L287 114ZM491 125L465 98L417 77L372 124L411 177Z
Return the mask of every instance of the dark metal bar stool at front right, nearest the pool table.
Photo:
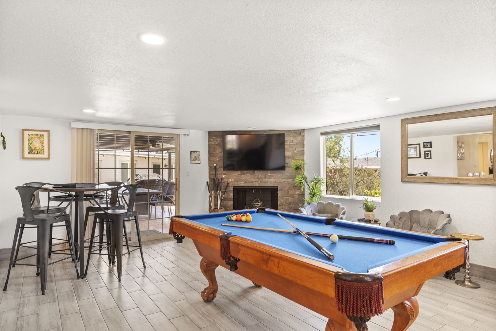
M88 271L88 265L90 263L90 258L92 254L97 254L97 255L106 255L103 253L96 253L97 251L101 252L102 248L107 248L107 254L110 255L110 260L112 265L114 265L114 261L117 258L117 277L119 281L121 281L121 276L122 276L122 256L123 256L123 229L124 229L124 220L126 218L134 218L134 222L136 225L136 231L137 231L137 237L138 237L138 245L129 245L126 242L127 248L129 247L135 247L133 250L128 252L133 252L135 250L140 251L141 253L141 261L143 262L143 267L146 268L145 265L145 260L143 258L143 249L141 247L141 233L139 232L139 222L138 222L138 212L136 209L133 209L134 206L134 201L136 199L136 190L138 188L138 184L130 184L130 185L124 185L119 189L119 195L121 197L121 200L124 201L124 203L127 205L126 209L119 209L119 208L111 208L111 209L105 209L103 206L100 205L99 200L95 199L95 203L100 206L101 210L95 212L94 214L94 221L93 221L93 227L91 229L91 236L90 236L90 247L88 251L88 261L86 264L86 271ZM102 190L99 192L95 192L94 195L99 195L111 190L116 190L115 188L111 189L106 189ZM111 243L110 247L109 245L104 245L104 244L97 244L94 245L94 238L95 238L95 230L98 222L109 222L110 227L111 227Z

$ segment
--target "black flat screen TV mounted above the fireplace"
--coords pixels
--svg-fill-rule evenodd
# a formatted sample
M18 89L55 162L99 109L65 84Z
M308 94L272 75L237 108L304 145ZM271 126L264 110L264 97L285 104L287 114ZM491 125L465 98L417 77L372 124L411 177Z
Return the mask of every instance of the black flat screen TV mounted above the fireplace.
M224 170L285 170L284 133L224 134Z

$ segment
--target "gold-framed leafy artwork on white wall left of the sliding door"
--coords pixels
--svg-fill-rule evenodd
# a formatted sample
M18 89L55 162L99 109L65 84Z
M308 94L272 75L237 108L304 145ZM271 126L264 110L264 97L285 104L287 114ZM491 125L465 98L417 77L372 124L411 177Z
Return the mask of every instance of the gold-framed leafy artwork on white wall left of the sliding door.
M50 160L50 131L22 129L22 158Z

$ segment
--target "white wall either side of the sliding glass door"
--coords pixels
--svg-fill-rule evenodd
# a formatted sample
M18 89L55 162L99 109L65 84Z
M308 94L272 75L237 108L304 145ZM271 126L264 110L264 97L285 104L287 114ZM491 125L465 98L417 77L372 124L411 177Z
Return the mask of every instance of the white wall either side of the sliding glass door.
M12 245L17 217L22 216L19 194L14 188L26 182L71 182L71 129L70 121L66 120L10 115L1 115L0 119L1 132L7 141L7 149L0 150L0 248L7 248ZM50 130L50 160L22 159L22 129ZM208 132L191 131L189 136L180 134L180 210L185 215L208 212L205 184L208 178L207 142ZM200 164L189 163L190 150L200 151ZM186 170L190 177L186 177ZM35 238L32 230L25 232L23 240Z

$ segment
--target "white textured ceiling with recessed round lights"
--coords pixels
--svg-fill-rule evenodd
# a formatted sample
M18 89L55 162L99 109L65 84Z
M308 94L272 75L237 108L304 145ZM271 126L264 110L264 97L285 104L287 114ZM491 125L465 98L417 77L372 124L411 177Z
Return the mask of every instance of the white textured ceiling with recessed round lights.
M1 114L306 129L496 99L494 0L1 0L0 29Z

